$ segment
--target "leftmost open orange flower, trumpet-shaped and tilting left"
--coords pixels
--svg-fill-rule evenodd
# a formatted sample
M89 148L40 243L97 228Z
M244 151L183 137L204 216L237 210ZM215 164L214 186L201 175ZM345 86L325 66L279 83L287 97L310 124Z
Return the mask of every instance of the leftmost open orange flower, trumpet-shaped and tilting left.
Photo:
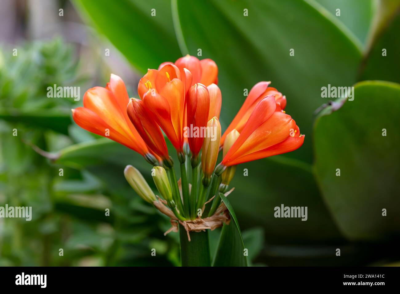
M89 132L108 137L145 158L154 158L130 123L126 113L128 102L124 82L119 76L111 74L106 88L94 87L86 91L83 96L84 107L72 109L72 118L78 126Z

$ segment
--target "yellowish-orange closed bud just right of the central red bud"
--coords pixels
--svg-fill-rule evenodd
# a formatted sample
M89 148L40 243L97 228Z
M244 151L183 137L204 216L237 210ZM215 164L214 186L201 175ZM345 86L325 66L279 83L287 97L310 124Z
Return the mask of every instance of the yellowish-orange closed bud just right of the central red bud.
M204 178L210 178L218 158L221 140L221 125L215 116L208 121L207 129L210 136L204 138L201 165Z

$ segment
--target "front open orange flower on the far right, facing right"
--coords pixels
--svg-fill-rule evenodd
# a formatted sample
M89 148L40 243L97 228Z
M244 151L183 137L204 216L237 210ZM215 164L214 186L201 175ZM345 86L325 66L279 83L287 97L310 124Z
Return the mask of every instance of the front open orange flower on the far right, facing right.
M304 142L304 135L291 116L281 111L275 97L263 98L254 108L240 136L222 160L232 166L268 156L290 152Z

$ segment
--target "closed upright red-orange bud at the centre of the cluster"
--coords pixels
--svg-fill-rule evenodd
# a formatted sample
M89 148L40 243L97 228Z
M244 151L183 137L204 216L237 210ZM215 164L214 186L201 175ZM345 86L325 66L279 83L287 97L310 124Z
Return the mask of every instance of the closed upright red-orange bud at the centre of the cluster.
M203 132L208 122L208 112L210 110L210 96L206 86L194 84L190 88L187 100L187 124L185 134L188 138L192 157L197 158L203 145Z

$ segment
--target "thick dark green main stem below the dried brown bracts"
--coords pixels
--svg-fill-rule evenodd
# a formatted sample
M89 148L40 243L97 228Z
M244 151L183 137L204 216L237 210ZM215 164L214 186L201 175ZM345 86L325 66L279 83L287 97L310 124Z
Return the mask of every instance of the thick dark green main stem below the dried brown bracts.
M186 230L179 225L179 238L182 266L211 266L208 230L190 232L189 242Z

